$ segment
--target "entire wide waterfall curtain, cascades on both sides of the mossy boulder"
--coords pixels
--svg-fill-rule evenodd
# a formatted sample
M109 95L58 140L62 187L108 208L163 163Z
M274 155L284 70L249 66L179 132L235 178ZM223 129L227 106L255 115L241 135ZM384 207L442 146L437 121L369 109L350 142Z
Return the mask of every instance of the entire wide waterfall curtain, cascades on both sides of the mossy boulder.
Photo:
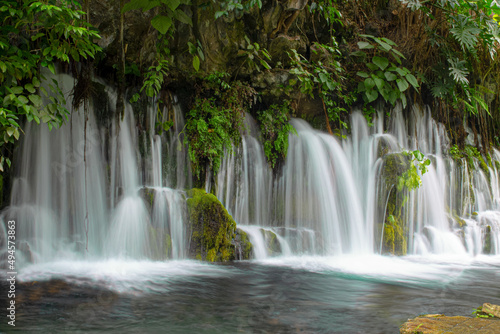
M74 80L57 80L70 102ZM116 115L117 94L110 88L105 94L115 115L105 122L90 103L59 129L26 125L0 229L3 242L5 222L19 222L20 264L186 257L192 173L181 105L172 96L160 112L152 101L142 124L128 103ZM273 171L259 127L246 116L241 145L227 151L216 182L206 186L247 233L255 258L379 253L386 215L396 215L391 198L400 205L408 254L500 254L499 151L486 166L451 159L446 131L428 108L413 107L407 118L400 107L389 119L380 112L372 127L360 112L351 117L345 138L292 119L297 135L289 135L287 157ZM170 131L158 133L157 122L167 121ZM389 182L388 157L417 149L432 163L418 189L398 191Z

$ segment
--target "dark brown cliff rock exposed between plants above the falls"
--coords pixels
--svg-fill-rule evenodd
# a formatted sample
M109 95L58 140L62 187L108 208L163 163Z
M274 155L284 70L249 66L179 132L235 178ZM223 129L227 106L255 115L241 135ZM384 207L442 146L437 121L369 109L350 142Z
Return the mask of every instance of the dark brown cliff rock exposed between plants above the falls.
M205 1L193 0L191 5L183 7L192 18L192 26L175 21L169 37L171 66L165 88L189 97L194 94L196 77L227 72L231 78L243 79L257 89L266 105L281 103L290 79L288 71L283 70L283 65L289 62L287 53L295 49L306 58L311 56L310 38L315 32L309 12L304 10L306 3L305 0L263 1L260 9L255 6L247 13L234 10L215 19L215 13L221 10L220 3L206 5ZM137 91L142 83L139 73L146 72L155 60L158 32L151 27L151 19L157 12L132 10L121 14L120 2L115 0L90 0L88 8L90 23L102 37L98 44L104 49L103 58L96 63L96 74L117 84L123 53L126 86L136 86L135 90L128 89L129 93ZM320 31L321 27L316 29ZM198 72L193 69L188 42L201 46L203 51L204 60ZM264 68L259 65L258 55L249 52L254 43L268 50L271 56L268 62L273 69L265 75L261 73ZM312 121L323 115L320 101L310 100L298 90L291 95L296 100L295 109L300 110L297 116Z

